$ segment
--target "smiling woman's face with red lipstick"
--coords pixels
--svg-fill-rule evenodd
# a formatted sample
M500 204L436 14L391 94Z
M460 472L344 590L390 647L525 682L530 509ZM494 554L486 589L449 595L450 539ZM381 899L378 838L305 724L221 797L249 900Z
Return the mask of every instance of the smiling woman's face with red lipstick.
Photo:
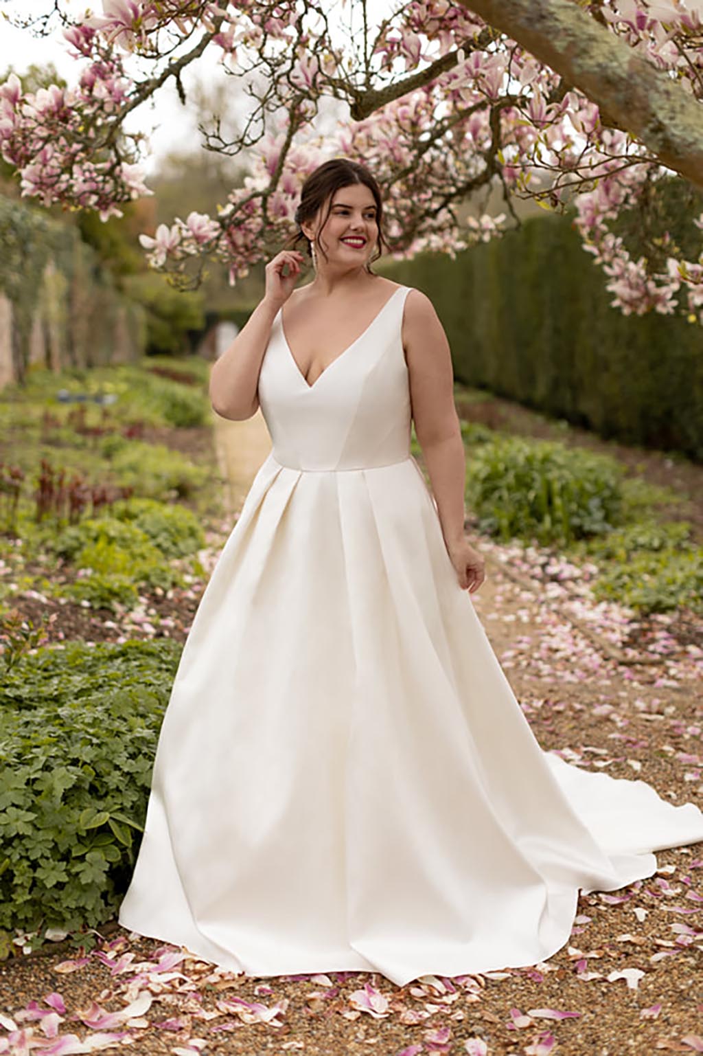
M341 265L365 267L378 243L378 216L376 200L365 184L340 187L331 196L329 216L322 230L327 212L325 203L309 224L303 224L308 239L317 239L317 246L327 254L318 252L318 267Z

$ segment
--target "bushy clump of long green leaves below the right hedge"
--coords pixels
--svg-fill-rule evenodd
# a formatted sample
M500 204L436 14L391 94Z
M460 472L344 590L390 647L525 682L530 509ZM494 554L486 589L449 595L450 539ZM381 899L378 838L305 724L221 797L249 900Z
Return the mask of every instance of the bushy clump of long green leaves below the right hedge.
M501 436L472 451L467 496L483 531L567 543L618 523L623 473L606 455Z

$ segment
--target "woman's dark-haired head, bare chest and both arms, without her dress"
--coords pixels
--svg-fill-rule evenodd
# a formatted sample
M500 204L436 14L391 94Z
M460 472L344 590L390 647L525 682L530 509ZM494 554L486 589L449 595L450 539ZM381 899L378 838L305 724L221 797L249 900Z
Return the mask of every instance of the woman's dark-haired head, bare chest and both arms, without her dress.
M354 177L354 183L346 183ZM299 232L315 264L312 282L296 290L304 257L284 249L266 267L266 291L249 321L210 376L210 399L224 418L250 418L271 325L283 305L286 341L309 385L362 334L397 284L374 275L381 253L383 204L362 165L338 159L322 166L305 186L297 212ZM466 460L454 406L449 341L432 302L410 291L402 322L415 433L437 502L448 553L461 587L477 590L484 563L463 531Z

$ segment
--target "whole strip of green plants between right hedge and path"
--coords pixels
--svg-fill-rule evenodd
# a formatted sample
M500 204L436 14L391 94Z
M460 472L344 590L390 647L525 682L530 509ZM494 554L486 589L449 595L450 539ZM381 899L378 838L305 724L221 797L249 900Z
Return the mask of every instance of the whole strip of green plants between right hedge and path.
M584 566L595 600L642 616L703 612L703 546L690 522L667 520L679 494L627 476L607 453L482 421L462 420L461 431L467 507L479 532L542 547L544 563L560 555Z

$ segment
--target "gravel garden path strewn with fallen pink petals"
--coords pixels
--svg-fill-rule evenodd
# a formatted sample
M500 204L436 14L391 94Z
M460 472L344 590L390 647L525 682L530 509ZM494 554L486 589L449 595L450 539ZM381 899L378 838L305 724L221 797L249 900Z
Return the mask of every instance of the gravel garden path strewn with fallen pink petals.
M226 429L247 426L258 466L259 423ZM240 478L240 498L247 487ZM700 804L702 621L677 636L676 616L640 622L595 604L566 563L480 548L488 578L474 604L543 748ZM703 1052L703 844L657 857L653 876L582 895L570 942L548 962L404 987L364 973L238 977L113 922L88 953L61 943L0 964L0 1054Z

